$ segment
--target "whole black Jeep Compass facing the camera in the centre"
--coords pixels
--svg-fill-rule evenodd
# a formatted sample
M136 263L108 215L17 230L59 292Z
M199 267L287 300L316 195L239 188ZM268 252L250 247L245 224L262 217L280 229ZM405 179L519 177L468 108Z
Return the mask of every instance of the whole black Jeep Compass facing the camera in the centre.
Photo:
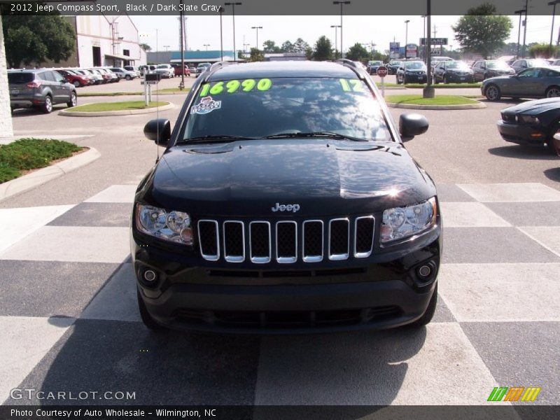
M441 218L433 181L352 62L218 63L144 132L166 150L134 200L149 328L312 332L428 323Z

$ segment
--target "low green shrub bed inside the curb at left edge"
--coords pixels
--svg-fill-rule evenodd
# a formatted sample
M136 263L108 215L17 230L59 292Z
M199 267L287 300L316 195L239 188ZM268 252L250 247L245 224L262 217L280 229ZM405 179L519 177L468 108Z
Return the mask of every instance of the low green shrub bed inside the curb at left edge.
M76 144L59 140L20 139L0 146L0 183L21 176L22 171L43 168L80 151Z

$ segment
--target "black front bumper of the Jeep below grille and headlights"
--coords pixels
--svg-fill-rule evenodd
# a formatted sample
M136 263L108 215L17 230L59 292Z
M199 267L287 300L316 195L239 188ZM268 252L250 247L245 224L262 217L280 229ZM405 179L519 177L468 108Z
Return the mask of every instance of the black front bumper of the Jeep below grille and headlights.
M146 244L132 232L137 286L153 319L168 328L286 334L382 329L412 323L435 290L441 228L364 261L245 269ZM432 272L421 279L419 267ZM291 267L293 266L293 267ZM155 285L142 278L158 274Z

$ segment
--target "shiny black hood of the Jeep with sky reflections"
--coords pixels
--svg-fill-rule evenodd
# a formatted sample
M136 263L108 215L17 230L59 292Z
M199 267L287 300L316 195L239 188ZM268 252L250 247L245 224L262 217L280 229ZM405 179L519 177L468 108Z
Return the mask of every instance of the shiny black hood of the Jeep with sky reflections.
M330 216L421 202L435 188L400 144L290 139L170 148L141 194L195 216L272 216L276 203Z

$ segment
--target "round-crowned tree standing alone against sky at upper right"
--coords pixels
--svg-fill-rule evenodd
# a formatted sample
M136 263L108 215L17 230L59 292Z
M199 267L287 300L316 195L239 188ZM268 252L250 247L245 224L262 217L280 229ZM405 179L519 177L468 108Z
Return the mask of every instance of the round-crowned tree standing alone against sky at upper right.
M465 51L477 52L487 58L499 48L510 36L512 20L507 16L494 15L496 6L483 3L467 10L455 26L455 39Z

